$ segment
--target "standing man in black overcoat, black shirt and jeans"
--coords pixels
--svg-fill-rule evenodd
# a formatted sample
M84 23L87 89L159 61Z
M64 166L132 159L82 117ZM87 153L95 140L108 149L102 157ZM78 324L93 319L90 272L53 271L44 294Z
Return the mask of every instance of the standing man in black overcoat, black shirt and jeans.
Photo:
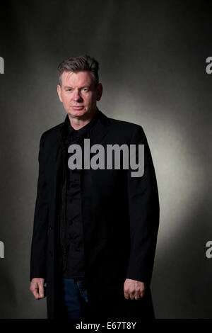
M69 57L58 71L67 115L40 140L30 290L44 298L47 283L48 318L153 318L159 203L146 135L140 125L97 108L102 84L95 59ZM134 145L137 159L144 145L143 175L132 176L131 164L91 168L86 159L86 167L70 167L70 153L80 147L83 157L86 140L105 152L109 145Z

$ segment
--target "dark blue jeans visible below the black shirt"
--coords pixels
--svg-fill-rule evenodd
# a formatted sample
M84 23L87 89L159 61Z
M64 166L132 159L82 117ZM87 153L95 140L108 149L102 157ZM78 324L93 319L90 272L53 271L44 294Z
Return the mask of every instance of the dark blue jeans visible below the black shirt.
M64 303L70 319L80 319L83 304L88 303L86 281L78 278L63 278Z

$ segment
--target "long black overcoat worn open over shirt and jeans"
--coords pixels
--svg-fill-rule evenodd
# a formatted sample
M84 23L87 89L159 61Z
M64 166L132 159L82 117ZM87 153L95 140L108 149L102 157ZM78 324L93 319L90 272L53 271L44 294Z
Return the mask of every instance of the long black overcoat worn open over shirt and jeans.
M101 111L90 146L144 145L144 174L131 169L83 169L81 202L90 319L153 317L151 276L158 235L155 170L140 125L108 118ZM39 177L30 259L30 281L45 278L48 318L63 317L59 221L62 170L61 123L40 139ZM129 146L130 147L130 146ZM147 283L139 300L124 298L124 281Z

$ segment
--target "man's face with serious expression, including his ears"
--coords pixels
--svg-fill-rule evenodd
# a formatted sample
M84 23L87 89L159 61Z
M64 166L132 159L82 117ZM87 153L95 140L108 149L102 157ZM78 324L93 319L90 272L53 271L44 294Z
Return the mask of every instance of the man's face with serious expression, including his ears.
M96 101L102 96L102 84L95 87L90 72L63 72L57 86L60 101L71 118L87 118L95 113Z

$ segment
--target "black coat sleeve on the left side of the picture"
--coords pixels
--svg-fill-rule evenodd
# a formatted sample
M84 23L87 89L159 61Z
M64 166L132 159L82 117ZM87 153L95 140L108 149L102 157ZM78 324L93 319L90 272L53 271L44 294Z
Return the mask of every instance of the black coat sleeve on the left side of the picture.
M32 278L46 278L48 203L47 185L44 174L44 135L40 139L38 155L39 176L37 181L37 198L33 225L33 237L30 257L30 281Z

